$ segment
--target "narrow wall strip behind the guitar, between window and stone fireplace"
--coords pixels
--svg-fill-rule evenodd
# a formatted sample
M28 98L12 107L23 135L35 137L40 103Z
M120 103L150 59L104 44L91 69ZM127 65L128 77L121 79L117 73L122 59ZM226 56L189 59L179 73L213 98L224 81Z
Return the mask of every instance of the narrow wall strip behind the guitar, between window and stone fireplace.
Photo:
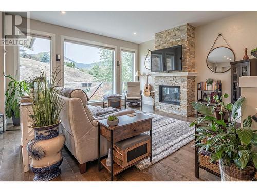
M151 73L151 70L148 70L144 67L144 59L145 56L148 52L148 50L154 50L154 40L150 40L150 41L146 41L143 42L142 44L139 44L139 70L141 72L141 74L143 75L142 77L140 77L140 82L141 82L141 90L144 90L144 85L146 84L146 74L148 74L149 72ZM153 78L152 76L148 77L148 83L151 84L152 86L152 90L154 91L154 86L153 86ZM153 105L153 99L152 97L145 97L143 96L143 103L144 104L149 104L149 105Z

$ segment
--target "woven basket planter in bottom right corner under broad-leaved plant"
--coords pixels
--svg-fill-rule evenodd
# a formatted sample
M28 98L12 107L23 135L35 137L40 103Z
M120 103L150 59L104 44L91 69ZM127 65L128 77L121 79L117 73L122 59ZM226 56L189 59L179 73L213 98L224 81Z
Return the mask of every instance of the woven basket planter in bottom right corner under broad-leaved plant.
M234 163L224 165L222 160L219 160L219 170L222 181L252 181L256 172L254 165L249 165L240 170Z

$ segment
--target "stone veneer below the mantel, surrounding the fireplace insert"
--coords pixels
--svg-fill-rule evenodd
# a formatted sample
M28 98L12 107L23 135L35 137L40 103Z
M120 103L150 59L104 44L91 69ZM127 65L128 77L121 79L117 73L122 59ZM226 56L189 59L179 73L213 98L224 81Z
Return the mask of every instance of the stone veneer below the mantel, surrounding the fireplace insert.
M191 105L191 103L194 101L194 84L195 77L193 76L155 77L155 108L159 111L174 113L177 115L194 115L194 109ZM159 86L180 86L180 105L159 102Z

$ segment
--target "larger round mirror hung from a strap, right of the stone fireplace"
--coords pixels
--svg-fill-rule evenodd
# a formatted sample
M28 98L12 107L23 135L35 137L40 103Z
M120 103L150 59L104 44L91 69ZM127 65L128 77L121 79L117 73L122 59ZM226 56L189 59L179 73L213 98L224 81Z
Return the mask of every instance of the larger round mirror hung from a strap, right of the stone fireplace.
M228 47L217 47L210 51L206 63L208 68L215 73L224 73L230 70L230 62L235 61L235 54Z

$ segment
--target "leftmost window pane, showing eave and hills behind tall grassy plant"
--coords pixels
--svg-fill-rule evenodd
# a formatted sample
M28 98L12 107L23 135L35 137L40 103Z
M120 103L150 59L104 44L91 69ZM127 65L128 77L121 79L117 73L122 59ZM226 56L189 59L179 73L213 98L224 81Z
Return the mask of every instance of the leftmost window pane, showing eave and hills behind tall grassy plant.
M19 45L19 77L27 80L29 77L39 76L39 72L46 70L46 76L50 77L50 38L28 36L28 44Z

